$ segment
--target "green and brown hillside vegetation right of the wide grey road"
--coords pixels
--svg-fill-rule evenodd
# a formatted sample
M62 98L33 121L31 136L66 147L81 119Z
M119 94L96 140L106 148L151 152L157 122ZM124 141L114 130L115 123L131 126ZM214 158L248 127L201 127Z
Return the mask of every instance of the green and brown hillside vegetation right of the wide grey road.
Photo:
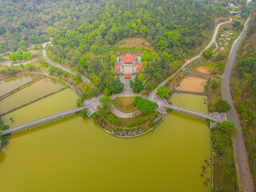
M250 28L238 51L238 59L230 81L235 107L240 114L242 131L256 182L256 13L251 15Z

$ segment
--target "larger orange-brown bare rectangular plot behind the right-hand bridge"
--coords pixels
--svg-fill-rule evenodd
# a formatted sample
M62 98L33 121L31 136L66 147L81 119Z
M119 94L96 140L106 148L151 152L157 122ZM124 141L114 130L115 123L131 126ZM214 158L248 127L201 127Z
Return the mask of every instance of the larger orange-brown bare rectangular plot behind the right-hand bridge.
M203 93L207 80L204 78L187 77L183 78L176 90L185 90L191 92Z

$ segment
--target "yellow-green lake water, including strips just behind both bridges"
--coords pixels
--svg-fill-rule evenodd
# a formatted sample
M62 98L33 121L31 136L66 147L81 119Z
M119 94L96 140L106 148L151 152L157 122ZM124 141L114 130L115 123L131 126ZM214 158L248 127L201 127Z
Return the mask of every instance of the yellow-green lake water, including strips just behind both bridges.
M201 110L206 107L201 96L180 95L201 103ZM184 104L175 97L175 105ZM76 95L64 90L9 115L16 125L74 108L75 102ZM3 119L8 122L9 117ZM197 118L173 113L149 134L122 139L74 115L14 134L0 152L0 189L209 192L210 184L203 186L202 182L210 178L210 168L205 178L199 177L208 158L209 129Z

